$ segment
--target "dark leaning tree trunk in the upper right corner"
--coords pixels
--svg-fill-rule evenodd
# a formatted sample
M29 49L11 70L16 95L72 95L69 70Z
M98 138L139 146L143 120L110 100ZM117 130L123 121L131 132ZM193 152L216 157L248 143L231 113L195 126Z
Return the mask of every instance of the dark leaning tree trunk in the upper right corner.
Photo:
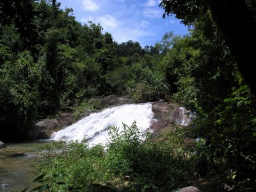
M245 0L208 0L212 17L237 61L244 81L256 94L256 22Z

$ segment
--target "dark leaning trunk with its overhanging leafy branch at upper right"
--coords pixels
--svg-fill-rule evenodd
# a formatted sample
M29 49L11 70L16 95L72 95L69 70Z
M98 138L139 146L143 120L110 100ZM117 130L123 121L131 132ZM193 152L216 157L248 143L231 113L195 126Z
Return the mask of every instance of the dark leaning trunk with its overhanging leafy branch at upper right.
M255 3L253 0L162 0L159 4L165 15L176 15L184 24L191 25L211 10L214 21L225 38L244 80L256 93L253 63L256 54ZM252 7L252 8L249 8Z

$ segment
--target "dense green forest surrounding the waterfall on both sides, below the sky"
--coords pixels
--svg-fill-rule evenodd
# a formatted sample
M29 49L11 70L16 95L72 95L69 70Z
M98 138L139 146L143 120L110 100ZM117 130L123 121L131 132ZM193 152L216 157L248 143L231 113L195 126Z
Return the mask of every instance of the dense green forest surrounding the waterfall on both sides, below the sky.
M91 97L118 93L148 102L168 94L198 115L191 135L205 142L196 149L196 174L237 191L255 189L255 2L160 5L193 27L142 48L118 44L100 24L81 25L72 8L61 10L54 0L1 1L0 140L24 139L36 119Z

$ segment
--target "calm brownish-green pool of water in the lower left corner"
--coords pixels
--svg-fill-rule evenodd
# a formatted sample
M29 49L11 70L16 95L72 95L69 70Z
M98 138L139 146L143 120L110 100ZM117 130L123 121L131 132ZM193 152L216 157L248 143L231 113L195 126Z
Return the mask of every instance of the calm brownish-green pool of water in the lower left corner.
M0 148L0 191L22 191L38 186L33 183L36 164L40 162L42 147L49 140L29 141L23 143L7 143L6 148Z

